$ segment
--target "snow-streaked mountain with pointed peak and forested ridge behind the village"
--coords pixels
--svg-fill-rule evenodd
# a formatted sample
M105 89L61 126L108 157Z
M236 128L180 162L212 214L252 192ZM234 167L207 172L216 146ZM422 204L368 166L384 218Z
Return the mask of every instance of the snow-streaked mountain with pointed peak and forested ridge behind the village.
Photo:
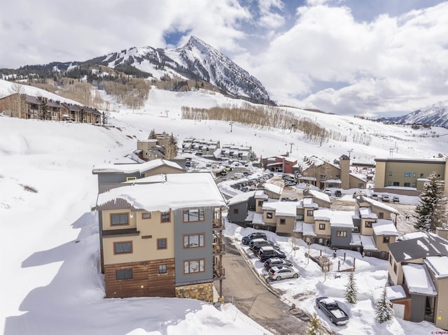
M191 36L188 43L181 48L161 49L146 46L113 52L85 62L52 62L22 66L18 70L0 69L0 75L3 75L0 78L6 79L8 76L27 78L27 74L32 71L45 74L44 78L51 78L48 73L64 73L73 71L79 66L89 65L108 66L140 78L152 77L160 80L168 76L180 80L203 80L218 87L220 92L230 97L273 104L265 87L257 78L195 36Z

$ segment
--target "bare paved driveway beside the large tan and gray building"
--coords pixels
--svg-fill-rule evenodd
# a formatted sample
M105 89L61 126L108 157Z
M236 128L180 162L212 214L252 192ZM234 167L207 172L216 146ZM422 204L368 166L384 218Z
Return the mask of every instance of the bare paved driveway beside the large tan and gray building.
M291 307L268 290L263 278L253 273L246 257L225 238L224 301L234 304L241 312L273 334L305 334L308 322L295 318ZM305 320L305 319L304 319Z

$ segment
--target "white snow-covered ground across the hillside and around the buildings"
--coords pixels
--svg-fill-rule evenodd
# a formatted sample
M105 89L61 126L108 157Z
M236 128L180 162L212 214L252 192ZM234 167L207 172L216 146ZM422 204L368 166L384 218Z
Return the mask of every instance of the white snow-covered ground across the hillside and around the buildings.
M0 80L1 94L6 95L7 85ZM97 197L92 166L132 152L137 138L147 138L151 129L173 133L179 142L197 137L251 145L262 157L285 153L291 142L292 156L317 155L331 160L351 149L355 159L388 157L394 142L398 147L394 156L400 157L434 157L447 148L447 129L432 129L439 138L416 139L414 131L405 127L299 110L291 111L309 115L328 129L381 136L372 136L369 146L350 141L320 146L307 143L299 132L265 131L237 123L230 132L228 122L181 119L181 106L226 103L229 99L220 94L152 90L140 111L122 106L120 112L111 113L109 122L115 127L0 117L0 329L5 334L269 333L230 304L218 311L191 299L103 299L98 228L90 213ZM225 234L240 238L249 231L228 224ZM351 315L346 327L332 327L341 334L428 334L437 330L427 322L374 322L371 293L386 282L386 262L357 260L360 301L351 306L342 299L344 276L325 280L315 264L307 264L300 241L296 241L300 248L294 252L287 238L271 238L289 252L288 257L301 271L297 281L274 283L285 290L284 299L312 312L316 294L335 297ZM354 257L351 252L348 255ZM325 317L322 320L326 321Z

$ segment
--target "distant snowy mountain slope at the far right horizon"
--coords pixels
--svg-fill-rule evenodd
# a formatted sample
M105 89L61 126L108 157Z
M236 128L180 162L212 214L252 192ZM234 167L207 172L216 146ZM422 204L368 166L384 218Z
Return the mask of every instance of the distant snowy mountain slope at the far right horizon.
M448 101L426 106L406 115L384 117L381 120L407 124L429 124L448 129Z

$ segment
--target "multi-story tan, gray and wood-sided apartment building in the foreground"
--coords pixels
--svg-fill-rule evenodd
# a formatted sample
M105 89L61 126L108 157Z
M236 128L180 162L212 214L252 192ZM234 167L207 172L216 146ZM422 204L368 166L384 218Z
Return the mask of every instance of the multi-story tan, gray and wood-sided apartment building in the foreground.
M100 185L106 297L222 296L225 199L210 173L169 173Z

